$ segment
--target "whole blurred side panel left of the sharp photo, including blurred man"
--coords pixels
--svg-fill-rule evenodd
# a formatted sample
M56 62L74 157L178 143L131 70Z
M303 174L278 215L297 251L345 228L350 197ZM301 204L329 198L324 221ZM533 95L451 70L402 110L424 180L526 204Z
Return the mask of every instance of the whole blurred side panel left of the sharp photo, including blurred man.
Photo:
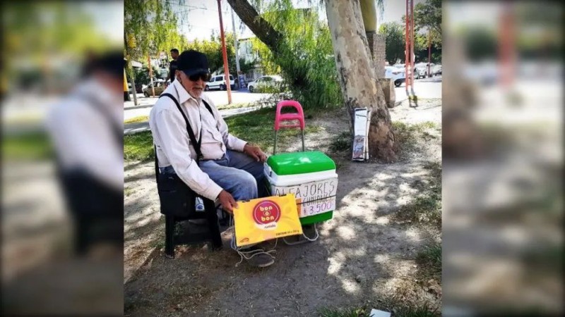
M0 12L1 315L121 316L123 1Z

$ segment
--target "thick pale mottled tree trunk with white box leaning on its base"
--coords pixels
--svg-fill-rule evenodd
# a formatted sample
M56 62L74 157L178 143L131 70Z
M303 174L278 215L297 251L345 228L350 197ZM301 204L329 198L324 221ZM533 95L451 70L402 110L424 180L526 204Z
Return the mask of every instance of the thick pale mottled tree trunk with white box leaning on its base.
M326 13L340 86L351 120L354 108L369 108L369 154L381 161L396 161L391 116L374 72L359 1L327 0Z

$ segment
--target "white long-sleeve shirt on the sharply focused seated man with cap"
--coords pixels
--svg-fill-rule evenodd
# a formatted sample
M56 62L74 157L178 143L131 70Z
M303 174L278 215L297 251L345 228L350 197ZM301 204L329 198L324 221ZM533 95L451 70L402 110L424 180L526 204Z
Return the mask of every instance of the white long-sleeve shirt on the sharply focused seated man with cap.
M195 99L178 80L172 82L165 92L172 94L179 101L197 142L202 129L203 159L221 159L226 149L243 151L246 142L230 135L225 120L205 94ZM204 106L202 99L210 105L214 116ZM211 180L193 160L196 158L196 151L186 132L184 118L174 101L169 97L161 97L151 109L149 126L157 148L159 167L172 166L179 178L192 190L208 199L216 199L222 187Z

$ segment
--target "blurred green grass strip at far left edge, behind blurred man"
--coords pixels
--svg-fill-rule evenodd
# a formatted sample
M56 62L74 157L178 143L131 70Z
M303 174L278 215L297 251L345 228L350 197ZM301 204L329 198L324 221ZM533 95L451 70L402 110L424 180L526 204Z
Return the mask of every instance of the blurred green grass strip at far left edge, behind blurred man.
M2 156L8 161L54 158L54 148L45 132L26 132L2 137Z

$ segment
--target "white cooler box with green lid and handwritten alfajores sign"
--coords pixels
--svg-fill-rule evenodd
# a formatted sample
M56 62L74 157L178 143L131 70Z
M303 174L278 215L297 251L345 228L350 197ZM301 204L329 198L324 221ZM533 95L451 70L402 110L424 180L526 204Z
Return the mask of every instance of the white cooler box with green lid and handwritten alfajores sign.
M271 195L295 194L301 199L302 225L333 218L338 174L335 163L321 151L281 153L269 156L265 164Z

